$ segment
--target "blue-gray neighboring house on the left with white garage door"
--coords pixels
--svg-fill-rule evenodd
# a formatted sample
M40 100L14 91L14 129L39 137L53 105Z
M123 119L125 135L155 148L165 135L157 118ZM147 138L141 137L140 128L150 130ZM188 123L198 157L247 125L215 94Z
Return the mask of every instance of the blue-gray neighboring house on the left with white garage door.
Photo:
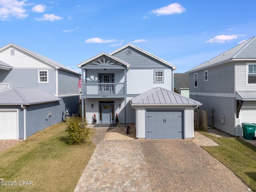
M78 113L78 77L18 45L0 48L0 139L26 139Z

